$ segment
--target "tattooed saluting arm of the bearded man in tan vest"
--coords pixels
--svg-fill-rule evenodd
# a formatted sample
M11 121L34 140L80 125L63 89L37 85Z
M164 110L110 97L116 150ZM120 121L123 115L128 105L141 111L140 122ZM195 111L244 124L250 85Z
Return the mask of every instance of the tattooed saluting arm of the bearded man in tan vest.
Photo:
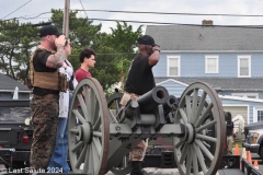
M65 43L66 39L64 35L60 35L58 38L56 38L55 44L57 46L57 52L47 58L46 67L60 68L64 66L66 59L66 54L64 50Z

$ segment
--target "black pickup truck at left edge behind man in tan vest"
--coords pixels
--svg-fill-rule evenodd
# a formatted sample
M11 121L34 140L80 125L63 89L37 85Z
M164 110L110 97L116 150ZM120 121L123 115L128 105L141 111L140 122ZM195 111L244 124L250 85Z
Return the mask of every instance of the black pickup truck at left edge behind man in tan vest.
M0 164L28 167L33 136L30 100L0 101Z

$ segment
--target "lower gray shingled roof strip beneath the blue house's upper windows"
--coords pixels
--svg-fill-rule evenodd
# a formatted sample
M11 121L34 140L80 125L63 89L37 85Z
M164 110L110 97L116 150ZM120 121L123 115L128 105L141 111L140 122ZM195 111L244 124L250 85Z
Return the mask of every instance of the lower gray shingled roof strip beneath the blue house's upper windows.
M263 91L263 78L155 78L156 83L172 79L185 84L206 82L215 89Z

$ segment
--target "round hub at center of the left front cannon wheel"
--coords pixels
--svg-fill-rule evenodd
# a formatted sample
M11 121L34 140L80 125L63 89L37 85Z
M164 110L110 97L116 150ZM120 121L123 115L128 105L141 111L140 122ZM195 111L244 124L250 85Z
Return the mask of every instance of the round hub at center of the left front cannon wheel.
M77 127L77 140L90 144L93 138L93 129L90 122Z

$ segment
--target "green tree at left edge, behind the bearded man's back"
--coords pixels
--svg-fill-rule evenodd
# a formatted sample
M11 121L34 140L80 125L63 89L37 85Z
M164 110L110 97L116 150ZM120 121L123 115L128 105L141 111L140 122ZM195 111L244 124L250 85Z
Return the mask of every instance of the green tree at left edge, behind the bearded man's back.
M18 20L0 23L0 71L25 82L32 48L38 45L38 30Z

